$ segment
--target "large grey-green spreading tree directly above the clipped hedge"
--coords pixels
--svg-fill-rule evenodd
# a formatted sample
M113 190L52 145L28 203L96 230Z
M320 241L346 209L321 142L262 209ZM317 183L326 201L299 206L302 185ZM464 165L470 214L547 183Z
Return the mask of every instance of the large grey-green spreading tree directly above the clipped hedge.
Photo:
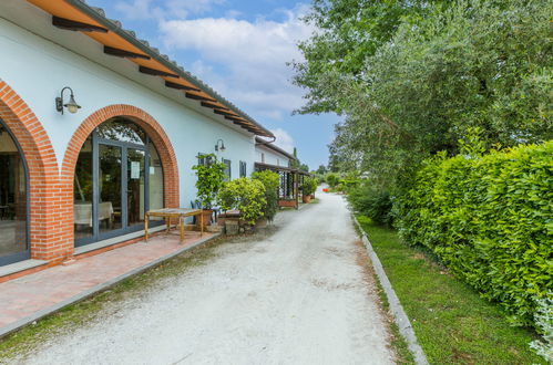
M358 168L391 184L429 155L459 153L474 127L488 147L553 137L551 7L473 0L423 12L393 25L355 73L310 74L310 91L346 115L330 145L331 169Z

